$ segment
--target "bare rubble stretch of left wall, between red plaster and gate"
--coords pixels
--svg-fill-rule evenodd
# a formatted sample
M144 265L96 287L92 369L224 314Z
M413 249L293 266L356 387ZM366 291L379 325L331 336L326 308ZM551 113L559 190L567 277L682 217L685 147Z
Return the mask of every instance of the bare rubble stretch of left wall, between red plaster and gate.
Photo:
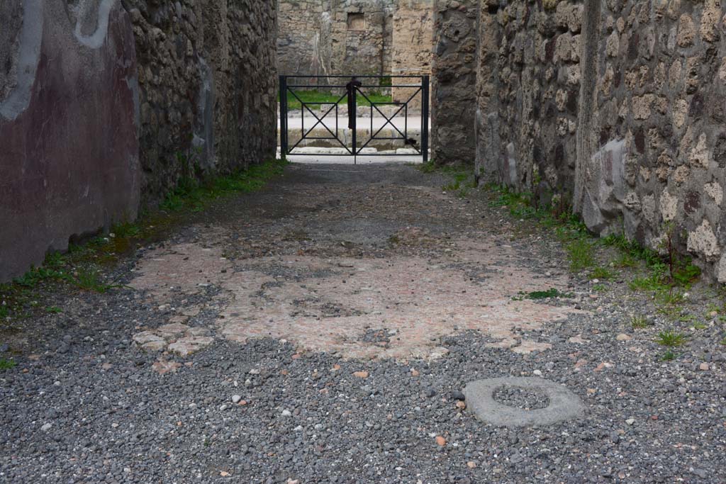
M181 176L274 158L274 0L123 4L139 62L144 201L157 200Z

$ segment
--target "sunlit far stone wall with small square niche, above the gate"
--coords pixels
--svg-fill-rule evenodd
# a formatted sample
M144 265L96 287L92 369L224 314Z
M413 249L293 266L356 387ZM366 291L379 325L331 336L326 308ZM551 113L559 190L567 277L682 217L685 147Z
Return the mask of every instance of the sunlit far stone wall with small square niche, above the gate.
M433 0L278 0L285 75L431 72Z

